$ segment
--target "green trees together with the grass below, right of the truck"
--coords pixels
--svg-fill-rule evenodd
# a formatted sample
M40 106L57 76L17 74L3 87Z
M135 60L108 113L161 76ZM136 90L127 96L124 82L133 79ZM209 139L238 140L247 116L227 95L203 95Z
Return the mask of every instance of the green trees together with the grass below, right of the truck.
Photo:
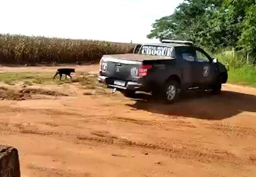
M256 85L256 1L184 0L148 38L190 40L230 66L230 83Z

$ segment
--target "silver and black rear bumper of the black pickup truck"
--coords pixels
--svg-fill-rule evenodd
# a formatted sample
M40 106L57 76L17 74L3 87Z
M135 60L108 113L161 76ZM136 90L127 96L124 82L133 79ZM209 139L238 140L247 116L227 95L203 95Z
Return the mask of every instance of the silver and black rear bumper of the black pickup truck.
M142 83L127 81L125 86L114 85L114 79L106 76L98 76L98 81L104 83L110 88L117 88L119 90L137 90L143 91L144 85Z

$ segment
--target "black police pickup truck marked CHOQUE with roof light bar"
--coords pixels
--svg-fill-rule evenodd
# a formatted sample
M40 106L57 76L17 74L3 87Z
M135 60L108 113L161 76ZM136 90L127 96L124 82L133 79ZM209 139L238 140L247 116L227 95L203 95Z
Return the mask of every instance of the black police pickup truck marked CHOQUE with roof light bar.
M219 94L227 69L190 41L164 40L141 45L136 53L104 55L98 81L131 96L152 92L172 103L182 90L204 89Z

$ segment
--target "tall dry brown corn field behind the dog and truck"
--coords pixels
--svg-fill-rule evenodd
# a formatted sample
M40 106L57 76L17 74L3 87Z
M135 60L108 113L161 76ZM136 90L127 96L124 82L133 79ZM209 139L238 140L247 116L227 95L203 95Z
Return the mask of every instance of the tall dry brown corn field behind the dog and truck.
M104 54L132 53L130 43L0 34L0 63L96 63Z

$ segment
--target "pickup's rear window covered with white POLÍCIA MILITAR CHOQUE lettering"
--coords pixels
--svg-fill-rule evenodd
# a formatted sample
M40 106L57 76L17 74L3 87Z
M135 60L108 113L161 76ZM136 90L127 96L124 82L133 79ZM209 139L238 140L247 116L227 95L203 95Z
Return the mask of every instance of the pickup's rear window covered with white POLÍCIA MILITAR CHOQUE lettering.
M161 57L174 57L174 48L157 45L143 45L140 49L140 54L161 56Z

